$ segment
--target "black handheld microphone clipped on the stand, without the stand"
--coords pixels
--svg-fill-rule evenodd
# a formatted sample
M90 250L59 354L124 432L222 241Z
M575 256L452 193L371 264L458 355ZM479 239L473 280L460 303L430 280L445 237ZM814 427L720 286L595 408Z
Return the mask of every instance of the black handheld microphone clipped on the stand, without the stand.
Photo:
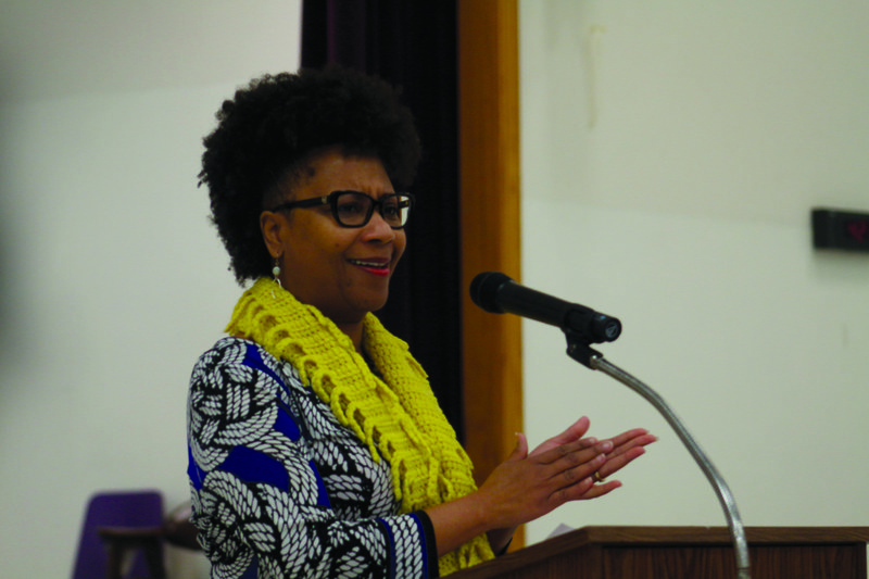
M526 288L501 272L477 274L470 299L492 314L516 314L557 326L587 343L612 342L621 333L621 322L578 303Z

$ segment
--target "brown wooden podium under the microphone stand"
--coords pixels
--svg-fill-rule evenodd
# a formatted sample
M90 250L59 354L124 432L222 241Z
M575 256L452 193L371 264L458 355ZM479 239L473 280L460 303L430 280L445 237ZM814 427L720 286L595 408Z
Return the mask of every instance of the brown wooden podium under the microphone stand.
M867 579L869 527L746 527L752 579ZM583 527L454 579L734 579L727 527Z

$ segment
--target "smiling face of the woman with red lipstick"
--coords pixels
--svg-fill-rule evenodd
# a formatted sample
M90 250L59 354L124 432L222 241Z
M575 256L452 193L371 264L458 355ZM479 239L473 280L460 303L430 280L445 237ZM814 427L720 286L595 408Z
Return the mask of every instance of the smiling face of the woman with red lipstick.
M379 159L328 150L313 159L291 199L284 201L332 191L361 191L375 199L394 192ZM338 325L361 322L367 312L386 304L389 280L406 244L403 229L392 229L378 211L363 227L341 227L329 205L270 215L261 219L266 243L273 256L279 255L281 285L299 301L316 306Z

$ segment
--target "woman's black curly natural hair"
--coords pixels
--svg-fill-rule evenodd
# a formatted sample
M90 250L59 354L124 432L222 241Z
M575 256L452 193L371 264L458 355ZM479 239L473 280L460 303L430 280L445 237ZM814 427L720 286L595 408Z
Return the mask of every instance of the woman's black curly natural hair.
M260 232L263 203L301 174L312 153L338 147L347 155L376 156L401 188L419 162L413 116L398 91L336 66L255 78L216 117L217 128L203 139L199 184L209 187L212 221L239 284L270 274Z

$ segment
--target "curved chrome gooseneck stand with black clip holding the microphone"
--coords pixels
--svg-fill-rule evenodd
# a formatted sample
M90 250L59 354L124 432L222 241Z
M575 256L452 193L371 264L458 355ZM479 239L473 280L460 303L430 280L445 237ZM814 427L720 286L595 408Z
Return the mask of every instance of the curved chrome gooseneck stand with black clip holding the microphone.
M728 527L730 528L730 536L733 540L733 547L736 552L736 578L751 579L748 542L745 539L745 529L742 526L742 519L740 518L740 513L736 508L736 502L733 499L733 494L730 492L730 489L728 488L727 482L725 482L723 477L721 477L709 457L706 456L696 441L694 441L694 438L684 427L679 417L676 416L676 413L670 410L664 399L660 398L657 392L652 390L652 388L638 380L627 372L622 370L618 366L604 360L603 354L596 350L593 350L589 345L587 338L575 331L571 331L570 329L565 330L565 336L567 337L568 356L593 370L603 372L610 378L614 378L615 380L626 385L628 388L646 399L653 406L655 406L655 408L657 408L657 411L662 414L662 416L664 416L672 429L676 430L676 433L688 449L688 452L691 453L691 456L694 457L694 461L697 463L703 470L703 474L706 475L706 478L711 483L716 494L718 495L718 501L721 503L721 507L725 511Z

